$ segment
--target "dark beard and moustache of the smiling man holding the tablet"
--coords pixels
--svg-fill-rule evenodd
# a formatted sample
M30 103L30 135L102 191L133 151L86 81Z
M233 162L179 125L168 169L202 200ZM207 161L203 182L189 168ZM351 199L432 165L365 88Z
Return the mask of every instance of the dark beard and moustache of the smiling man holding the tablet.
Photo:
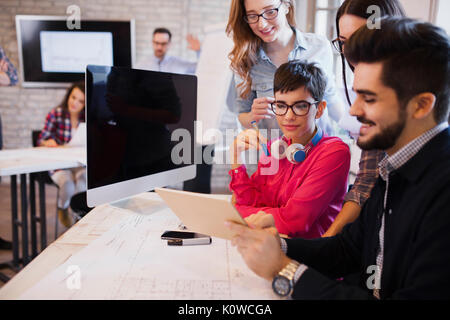
M364 118L357 118L361 123L371 123ZM390 126L381 130L380 133L376 134L370 140L361 142L358 138L357 145L363 150L388 150L392 148L397 142L398 137L403 132L406 125L406 112L405 110L399 111L399 120Z

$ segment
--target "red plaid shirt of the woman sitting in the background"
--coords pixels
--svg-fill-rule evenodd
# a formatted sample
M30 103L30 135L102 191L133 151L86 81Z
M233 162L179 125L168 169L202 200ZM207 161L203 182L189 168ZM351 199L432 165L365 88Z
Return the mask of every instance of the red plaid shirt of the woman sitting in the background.
M84 112L80 113L80 121L84 121ZM61 107L56 107L47 114L44 129L39 134L38 145L48 139L55 140L58 145L66 144L72 139L70 113Z

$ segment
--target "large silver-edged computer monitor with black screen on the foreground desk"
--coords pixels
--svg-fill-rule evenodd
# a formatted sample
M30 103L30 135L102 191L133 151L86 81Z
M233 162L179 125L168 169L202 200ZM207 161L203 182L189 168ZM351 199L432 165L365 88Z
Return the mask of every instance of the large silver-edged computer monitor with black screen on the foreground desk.
M88 65L88 206L193 179L196 107L196 76Z

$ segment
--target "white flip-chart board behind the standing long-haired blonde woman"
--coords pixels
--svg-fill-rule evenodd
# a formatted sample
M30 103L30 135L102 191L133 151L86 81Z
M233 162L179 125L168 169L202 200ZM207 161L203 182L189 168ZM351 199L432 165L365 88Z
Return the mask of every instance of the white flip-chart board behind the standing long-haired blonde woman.
M211 135L204 133L211 129L219 130L220 119L231 84L233 73L228 54L233 48L233 40L225 32L225 24L213 25L205 29L196 76L198 79L196 140L202 145L213 144Z

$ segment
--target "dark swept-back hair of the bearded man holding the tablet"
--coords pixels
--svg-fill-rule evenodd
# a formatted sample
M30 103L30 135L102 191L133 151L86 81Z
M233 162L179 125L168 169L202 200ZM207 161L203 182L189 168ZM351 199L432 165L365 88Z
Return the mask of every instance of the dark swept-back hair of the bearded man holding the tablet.
M434 120L446 121L450 96L446 32L409 18L386 17L380 23L381 29L359 28L345 46L345 57L353 65L382 62L381 81L394 89L403 107L420 93L433 93Z

